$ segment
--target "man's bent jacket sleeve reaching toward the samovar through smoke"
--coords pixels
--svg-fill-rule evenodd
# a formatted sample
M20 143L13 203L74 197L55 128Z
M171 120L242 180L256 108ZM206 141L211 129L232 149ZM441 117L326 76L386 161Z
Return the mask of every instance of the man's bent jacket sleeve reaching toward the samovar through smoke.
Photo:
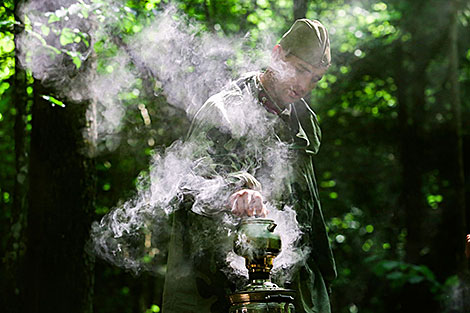
M261 190L261 184L255 178L259 164L246 151L244 138L233 135L224 110L225 101L219 97L209 98L196 113L186 138L187 144L197 146L194 158L204 164L194 169L197 174L203 176L205 182L220 182L218 188L212 190L186 191L194 198L192 211L208 216L228 210L228 198L237 190Z

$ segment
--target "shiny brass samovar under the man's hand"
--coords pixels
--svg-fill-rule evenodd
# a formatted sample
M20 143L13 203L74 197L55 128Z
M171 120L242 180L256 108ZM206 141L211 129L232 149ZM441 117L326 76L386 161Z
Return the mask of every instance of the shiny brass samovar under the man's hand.
M292 313L295 291L271 282L274 258L281 251L281 237L270 219L247 218L238 229L235 253L245 258L249 283L229 295L230 313Z

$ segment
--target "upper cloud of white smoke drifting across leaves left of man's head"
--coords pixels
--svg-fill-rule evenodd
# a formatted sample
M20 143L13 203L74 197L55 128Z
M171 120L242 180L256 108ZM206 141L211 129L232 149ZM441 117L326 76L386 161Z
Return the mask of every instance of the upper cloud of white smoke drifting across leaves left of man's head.
M17 40L21 63L60 97L90 103L90 127L84 135L97 153L119 145L126 111L120 95L139 94L142 75L155 79L154 90L147 93L163 93L191 117L239 73L264 67L273 45L269 34L255 50L248 47L249 38L204 32L202 24L171 5L153 11L150 22L139 21L145 25L140 32L123 36L119 23L132 12L124 2L38 3L30 1L21 8L27 25ZM243 54L237 53L242 49ZM105 72L97 72L98 63Z

